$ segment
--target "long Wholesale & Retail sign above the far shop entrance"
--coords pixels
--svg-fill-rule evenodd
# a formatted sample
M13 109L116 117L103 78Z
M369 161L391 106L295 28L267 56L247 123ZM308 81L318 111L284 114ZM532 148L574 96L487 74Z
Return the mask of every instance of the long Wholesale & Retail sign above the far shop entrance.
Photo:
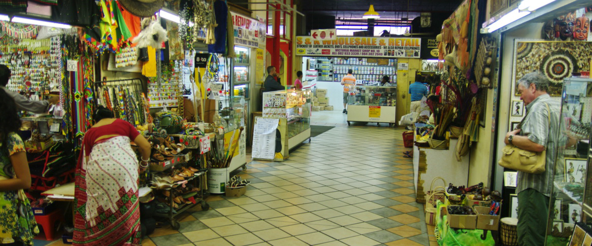
M296 37L296 55L324 57L420 58L421 38L337 37L315 41L310 36Z

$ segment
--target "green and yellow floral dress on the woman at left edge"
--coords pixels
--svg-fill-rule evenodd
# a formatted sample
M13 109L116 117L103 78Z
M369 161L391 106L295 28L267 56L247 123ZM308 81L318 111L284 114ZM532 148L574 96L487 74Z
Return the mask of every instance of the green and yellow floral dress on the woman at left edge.
M9 159L14 153L24 152L25 146L16 133L8 135L8 145L0 143L0 180L15 177ZM0 245L15 241L33 246L33 237L39 233L31 204L22 189L0 192Z

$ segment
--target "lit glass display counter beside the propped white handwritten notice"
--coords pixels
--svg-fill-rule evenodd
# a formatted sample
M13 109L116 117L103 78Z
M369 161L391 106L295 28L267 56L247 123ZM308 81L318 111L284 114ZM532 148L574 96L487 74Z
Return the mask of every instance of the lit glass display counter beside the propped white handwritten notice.
M263 93L263 117L286 119L278 126L282 150L276 161L287 159L288 150L310 141L311 96L310 89Z

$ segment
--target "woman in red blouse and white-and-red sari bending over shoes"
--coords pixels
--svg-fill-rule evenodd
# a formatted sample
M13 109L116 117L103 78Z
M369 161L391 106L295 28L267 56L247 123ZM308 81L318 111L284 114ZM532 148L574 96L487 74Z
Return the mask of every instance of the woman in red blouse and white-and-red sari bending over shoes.
M150 143L105 107L93 120L76 174L73 245L141 245L138 176L148 166ZM140 163L130 141L140 147Z

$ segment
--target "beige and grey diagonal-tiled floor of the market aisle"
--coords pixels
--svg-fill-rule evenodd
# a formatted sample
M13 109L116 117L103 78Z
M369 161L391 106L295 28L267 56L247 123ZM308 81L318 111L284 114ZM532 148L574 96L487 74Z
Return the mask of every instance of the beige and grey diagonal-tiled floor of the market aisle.
M210 210L197 206L179 231L158 228L143 245L437 245L401 132L340 126L285 162L250 162L239 173L252 182L244 196L210 196Z

